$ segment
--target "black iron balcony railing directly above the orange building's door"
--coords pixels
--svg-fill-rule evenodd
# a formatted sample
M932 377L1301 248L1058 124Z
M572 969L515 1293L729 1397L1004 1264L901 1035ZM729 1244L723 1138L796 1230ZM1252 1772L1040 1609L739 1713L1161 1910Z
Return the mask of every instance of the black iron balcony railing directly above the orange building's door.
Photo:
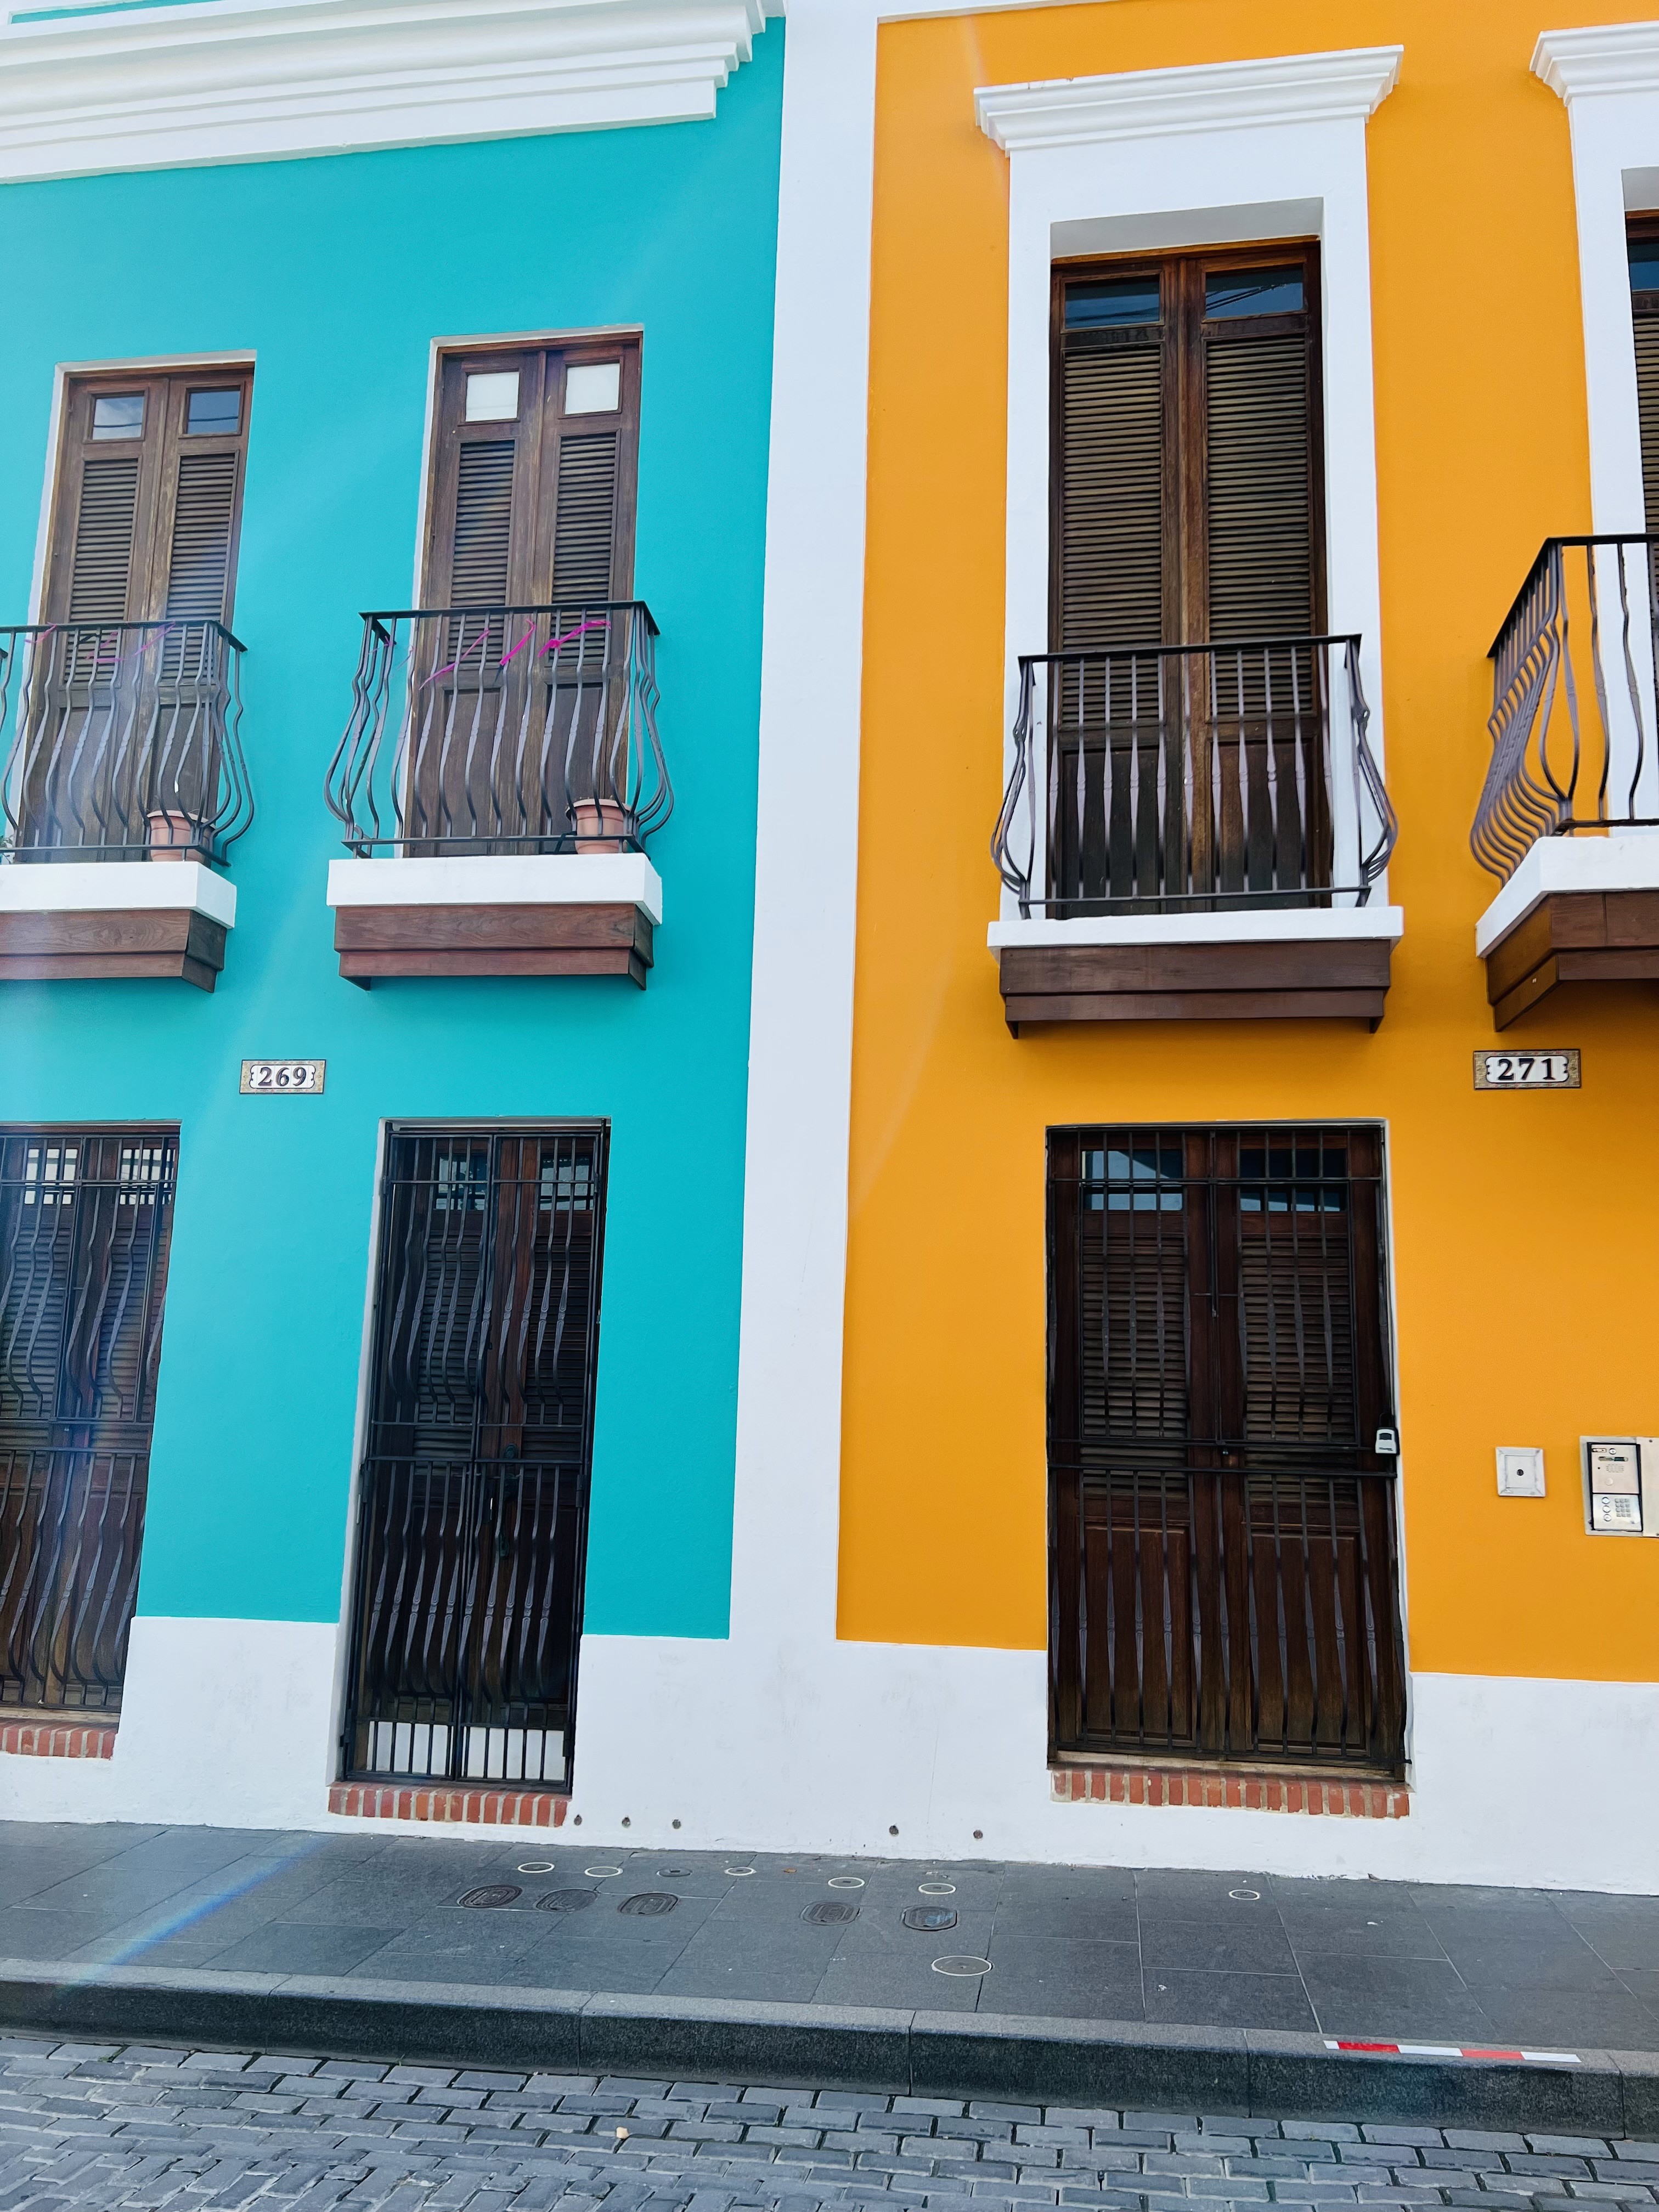
M1020 657L991 858L1020 914L1365 905L1398 823L1358 637Z

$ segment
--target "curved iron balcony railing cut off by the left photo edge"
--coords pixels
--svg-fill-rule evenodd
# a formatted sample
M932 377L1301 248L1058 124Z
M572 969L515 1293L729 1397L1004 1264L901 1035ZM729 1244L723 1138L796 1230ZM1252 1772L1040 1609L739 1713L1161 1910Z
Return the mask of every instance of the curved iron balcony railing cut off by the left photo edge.
M252 821L221 622L0 630L2 860L208 860Z

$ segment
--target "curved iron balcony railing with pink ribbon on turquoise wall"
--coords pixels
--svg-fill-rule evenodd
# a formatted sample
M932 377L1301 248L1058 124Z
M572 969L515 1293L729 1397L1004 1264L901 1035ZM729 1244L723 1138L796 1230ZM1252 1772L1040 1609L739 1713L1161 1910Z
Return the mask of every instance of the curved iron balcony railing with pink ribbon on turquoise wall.
M675 792L641 599L363 615L327 772L349 852L637 852Z

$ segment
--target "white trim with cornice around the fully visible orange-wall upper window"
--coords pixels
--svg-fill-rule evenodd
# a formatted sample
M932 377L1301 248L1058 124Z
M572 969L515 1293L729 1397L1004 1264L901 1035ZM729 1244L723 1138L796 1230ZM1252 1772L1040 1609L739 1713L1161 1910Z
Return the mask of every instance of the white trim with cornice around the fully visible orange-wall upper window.
M1371 750L1383 761L1365 124L1394 88L1400 53L1360 46L975 93L980 128L1006 150L1011 170L1006 732L1020 653L1042 650L1048 635L1053 261L1312 234L1321 246L1329 630L1360 635ZM1009 739L1004 770L1011 759ZM1345 779L1336 781L1340 792ZM1387 878L1371 898L1387 905ZM1004 889L1002 920L1015 918L1018 900Z

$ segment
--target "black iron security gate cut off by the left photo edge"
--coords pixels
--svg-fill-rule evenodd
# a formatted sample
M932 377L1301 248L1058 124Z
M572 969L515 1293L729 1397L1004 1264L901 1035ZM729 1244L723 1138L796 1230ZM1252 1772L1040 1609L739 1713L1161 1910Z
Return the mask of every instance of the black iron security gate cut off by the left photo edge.
M0 1705L122 1703L177 1161L170 1128L0 1130Z

